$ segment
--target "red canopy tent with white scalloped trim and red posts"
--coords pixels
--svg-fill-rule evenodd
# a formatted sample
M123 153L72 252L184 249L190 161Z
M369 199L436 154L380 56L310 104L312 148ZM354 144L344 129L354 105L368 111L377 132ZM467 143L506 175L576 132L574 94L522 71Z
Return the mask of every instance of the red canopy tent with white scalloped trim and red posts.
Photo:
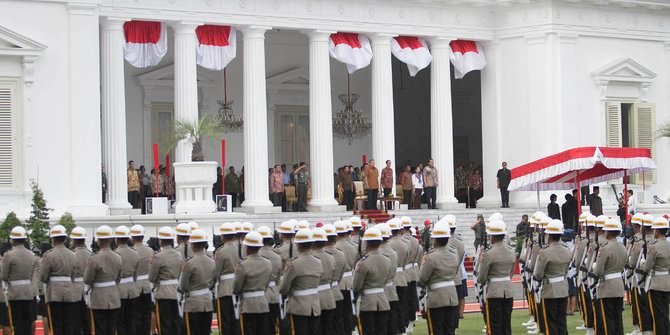
M539 207L539 191L576 188L579 203L579 189L582 184L605 182L651 171L655 168L656 164L651 159L650 149L581 147L512 169L512 180L508 189L510 191L537 191ZM627 192L625 194L627 196Z

